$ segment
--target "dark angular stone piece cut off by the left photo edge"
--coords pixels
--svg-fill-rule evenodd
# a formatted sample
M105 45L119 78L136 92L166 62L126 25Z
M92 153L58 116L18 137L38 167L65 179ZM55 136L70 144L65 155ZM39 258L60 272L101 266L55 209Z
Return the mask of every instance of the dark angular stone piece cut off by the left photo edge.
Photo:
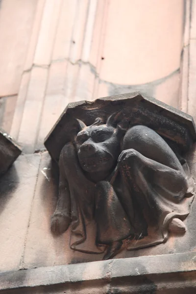
M0 130L0 175L8 170L21 152L21 147L13 138Z

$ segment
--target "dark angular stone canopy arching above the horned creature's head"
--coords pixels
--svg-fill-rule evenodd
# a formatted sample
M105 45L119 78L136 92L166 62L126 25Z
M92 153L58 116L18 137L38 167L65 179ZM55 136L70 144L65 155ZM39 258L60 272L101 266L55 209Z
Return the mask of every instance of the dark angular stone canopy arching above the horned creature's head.
M196 127L190 115L143 93L134 92L69 103L45 139L49 154L58 162L61 149L78 132L76 119L91 125L96 118L106 122L114 113L119 113L117 123L126 118L130 126L146 125L166 140L177 143L182 152L188 151L196 141Z

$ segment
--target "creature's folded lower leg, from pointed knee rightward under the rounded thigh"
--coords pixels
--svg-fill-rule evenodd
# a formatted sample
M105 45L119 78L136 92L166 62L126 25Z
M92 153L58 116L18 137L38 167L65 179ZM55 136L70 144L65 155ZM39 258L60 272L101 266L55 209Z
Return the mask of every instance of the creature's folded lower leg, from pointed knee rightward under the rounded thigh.
M135 149L121 153L119 168L125 182L129 182L135 192L142 191L145 195L150 196L160 187L172 201L179 202L188 188L184 172L149 159Z

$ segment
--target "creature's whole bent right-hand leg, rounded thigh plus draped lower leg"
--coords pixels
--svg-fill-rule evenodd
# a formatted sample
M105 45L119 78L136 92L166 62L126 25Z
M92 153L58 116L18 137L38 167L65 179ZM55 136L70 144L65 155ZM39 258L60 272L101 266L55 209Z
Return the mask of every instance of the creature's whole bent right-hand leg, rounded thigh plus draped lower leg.
M131 222L136 235L145 236L145 220L147 226L159 229L165 216L183 199L188 189L186 175L168 144L146 126L130 128L122 147L118 165L132 197Z

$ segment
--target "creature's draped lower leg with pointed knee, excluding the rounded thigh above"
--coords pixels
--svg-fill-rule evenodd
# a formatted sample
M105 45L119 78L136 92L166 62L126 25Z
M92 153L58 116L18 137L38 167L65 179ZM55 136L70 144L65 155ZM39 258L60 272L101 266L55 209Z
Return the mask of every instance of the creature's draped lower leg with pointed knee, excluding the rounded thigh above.
M187 181L183 173L149 159L134 149L122 152L119 169L124 185L130 188L135 213L132 223L136 236L140 238L146 232L144 220L158 228L160 218L170 212L164 198L173 203L180 202L186 193Z

